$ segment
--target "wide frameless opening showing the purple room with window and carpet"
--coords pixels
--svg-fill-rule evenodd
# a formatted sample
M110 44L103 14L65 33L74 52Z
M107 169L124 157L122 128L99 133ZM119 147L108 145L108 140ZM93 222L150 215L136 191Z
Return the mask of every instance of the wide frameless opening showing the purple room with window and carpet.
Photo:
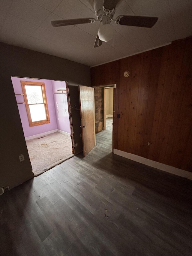
M73 155L67 82L11 77L35 176Z

